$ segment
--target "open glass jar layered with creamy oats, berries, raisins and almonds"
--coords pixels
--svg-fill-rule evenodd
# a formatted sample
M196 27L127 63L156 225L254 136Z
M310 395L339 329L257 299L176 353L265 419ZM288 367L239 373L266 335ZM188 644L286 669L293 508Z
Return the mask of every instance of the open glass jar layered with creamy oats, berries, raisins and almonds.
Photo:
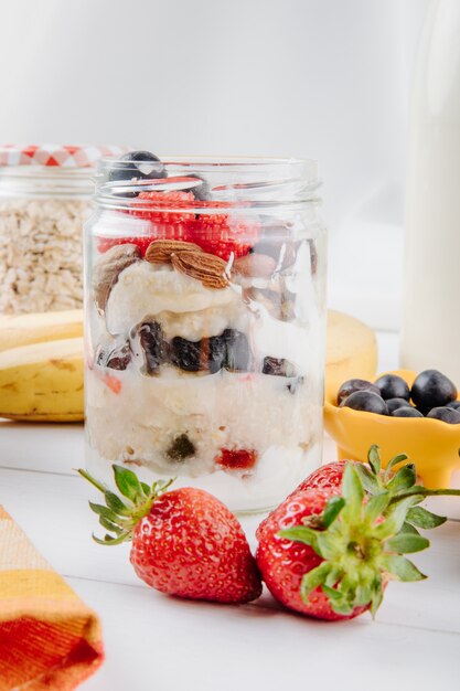
M99 164L86 226L87 467L268 509L320 465L325 231L313 161Z

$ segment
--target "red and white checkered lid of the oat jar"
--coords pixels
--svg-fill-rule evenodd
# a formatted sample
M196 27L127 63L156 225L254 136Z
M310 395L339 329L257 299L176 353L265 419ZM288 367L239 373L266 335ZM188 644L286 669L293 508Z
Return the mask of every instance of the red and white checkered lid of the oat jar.
M94 145L17 145L0 146L0 166L58 166L62 168L93 168L103 157L120 156L128 147Z

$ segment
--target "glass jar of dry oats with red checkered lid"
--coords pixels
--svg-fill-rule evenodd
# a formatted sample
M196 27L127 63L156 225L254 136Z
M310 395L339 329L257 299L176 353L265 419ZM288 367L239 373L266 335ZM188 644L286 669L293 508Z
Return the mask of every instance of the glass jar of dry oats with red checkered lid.
M94 166L114 146L0 146L0 312L83 305L82 228Z

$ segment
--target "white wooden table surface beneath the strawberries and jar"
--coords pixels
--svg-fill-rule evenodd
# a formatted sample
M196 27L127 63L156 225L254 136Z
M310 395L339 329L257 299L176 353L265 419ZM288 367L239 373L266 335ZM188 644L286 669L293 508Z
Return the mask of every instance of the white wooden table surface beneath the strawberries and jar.
M379 343L391 369L396 337ZM137 580L129 545L90 540L97 519L73 471L84 463L81 425L0 424L0 503L103 620L107 660L85 691L460 689L459 521L416 555L429 578L391 584L374 623L311 620L266 592L237 607L179 600ZM327 440L324 458L334 457ZM259 520L242 521L253 545Z

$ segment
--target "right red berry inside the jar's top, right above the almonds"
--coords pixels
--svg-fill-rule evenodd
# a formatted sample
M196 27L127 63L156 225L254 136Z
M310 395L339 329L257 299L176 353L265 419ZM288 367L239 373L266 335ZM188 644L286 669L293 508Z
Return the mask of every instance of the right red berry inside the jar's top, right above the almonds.
M200 208L229 208L228 202L199 202ZM195 242L204 252L214 254L226 262L246 255L256 244L260 232L258 221L243 220L236 214L206 214L197 215L194 225Z

